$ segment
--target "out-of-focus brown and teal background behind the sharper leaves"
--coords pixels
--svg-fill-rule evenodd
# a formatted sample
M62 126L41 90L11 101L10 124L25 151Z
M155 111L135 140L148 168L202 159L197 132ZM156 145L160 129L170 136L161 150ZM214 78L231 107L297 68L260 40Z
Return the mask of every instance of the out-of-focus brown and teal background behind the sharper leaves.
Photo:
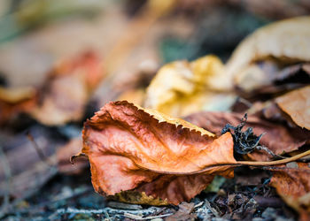
M225 63L257 28L309 12L307 0L1 0L0 216L100 208L88 162L68 160L86 118L108 101L142 105L168 62Z

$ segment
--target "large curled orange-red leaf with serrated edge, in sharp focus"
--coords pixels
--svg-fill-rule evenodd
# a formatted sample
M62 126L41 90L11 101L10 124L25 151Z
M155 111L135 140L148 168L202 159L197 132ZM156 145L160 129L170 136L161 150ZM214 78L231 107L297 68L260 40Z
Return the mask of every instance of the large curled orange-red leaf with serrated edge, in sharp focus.
M136 190L169 203L189 201L213 179L231 175L230 133L215 138L198 126L128 102L108 103L84 125L82 153L100 194ZM182 175L185 174L185 175ZM149 202L150 203L150 202Z

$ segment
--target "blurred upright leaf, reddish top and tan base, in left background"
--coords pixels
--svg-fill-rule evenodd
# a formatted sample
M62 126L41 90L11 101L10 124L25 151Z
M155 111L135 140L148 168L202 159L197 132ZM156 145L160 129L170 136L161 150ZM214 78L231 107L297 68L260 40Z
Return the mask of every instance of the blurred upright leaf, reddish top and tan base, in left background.
M30 115L49 126L80 120L90 93L102 77L101 62L92 52L63 62L51 72Z

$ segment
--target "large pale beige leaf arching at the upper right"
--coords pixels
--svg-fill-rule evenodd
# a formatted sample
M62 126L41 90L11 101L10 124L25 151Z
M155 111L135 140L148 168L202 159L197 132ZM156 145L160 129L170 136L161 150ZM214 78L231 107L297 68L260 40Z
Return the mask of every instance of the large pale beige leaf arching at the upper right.
M234 51L225 67L227 78L235 78L255 62L267 57L275 57L283 64L309 62L309 26L310 17L306 16L285 19L261 27L241 42Z

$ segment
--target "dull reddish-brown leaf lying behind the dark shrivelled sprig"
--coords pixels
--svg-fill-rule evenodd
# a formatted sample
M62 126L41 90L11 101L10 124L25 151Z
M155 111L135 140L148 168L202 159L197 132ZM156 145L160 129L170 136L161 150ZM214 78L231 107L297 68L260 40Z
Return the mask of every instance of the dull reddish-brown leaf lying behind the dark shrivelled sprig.
M221 129L226 125L237 126L243 114L229 112L200 112L185 118L192 124L205 128L217 135L221 134ZM277 155L288 153L303 146L306 141L310 141L310 133L300 128L287 128L270 121L249 116L246 126L251 126L256 135L266 133L262 136L260 144L266 146ZM249 154L251 159L256 161L267 161L272 158L265 151L255 151Z

